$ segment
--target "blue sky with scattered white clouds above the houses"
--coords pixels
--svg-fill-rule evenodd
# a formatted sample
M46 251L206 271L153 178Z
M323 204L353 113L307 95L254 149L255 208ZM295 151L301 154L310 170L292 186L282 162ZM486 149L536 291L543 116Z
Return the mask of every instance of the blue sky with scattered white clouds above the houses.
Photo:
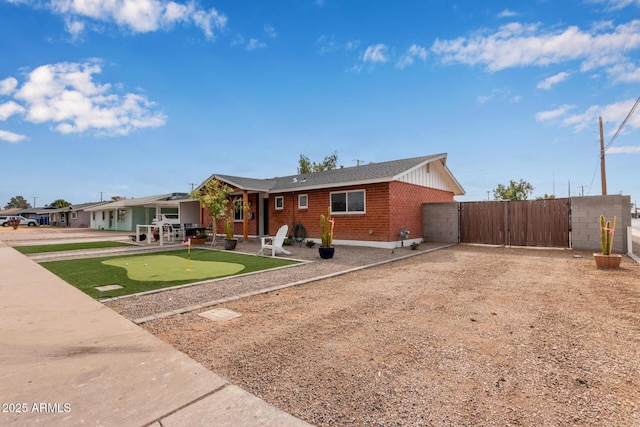
M640 202L633 0L0 0L0 207L448 153L467 194Z

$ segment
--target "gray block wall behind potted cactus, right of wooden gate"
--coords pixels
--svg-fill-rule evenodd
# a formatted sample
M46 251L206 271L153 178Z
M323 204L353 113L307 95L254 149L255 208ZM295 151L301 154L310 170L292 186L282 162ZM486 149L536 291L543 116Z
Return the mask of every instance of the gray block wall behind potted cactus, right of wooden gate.
M573 249L600 252L600 215L607 221L617 217L613 252L627 252L627 227L631 226L631 196L571 198Z

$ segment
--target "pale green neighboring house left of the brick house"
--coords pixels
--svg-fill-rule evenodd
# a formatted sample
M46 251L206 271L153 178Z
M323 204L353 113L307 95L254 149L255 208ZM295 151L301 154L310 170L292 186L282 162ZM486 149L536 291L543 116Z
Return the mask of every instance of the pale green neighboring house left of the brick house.
M200 221L199 205L187 193L122 199L86 209L91 214L92 229L135 231L136 225L151 225L160 214L179 214L182 224Z

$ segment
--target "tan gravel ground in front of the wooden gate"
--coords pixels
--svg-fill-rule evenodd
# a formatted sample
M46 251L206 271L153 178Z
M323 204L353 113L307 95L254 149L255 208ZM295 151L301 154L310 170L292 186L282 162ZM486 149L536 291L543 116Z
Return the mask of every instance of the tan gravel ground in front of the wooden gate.
M627 257L455 246L221 307L144 327L315 425L640 425Z

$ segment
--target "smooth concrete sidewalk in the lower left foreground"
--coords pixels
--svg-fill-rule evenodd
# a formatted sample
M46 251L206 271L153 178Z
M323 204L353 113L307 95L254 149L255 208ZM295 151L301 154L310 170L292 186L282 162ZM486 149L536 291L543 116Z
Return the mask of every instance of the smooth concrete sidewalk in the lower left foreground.
M0 425L304 426L0 242Z

